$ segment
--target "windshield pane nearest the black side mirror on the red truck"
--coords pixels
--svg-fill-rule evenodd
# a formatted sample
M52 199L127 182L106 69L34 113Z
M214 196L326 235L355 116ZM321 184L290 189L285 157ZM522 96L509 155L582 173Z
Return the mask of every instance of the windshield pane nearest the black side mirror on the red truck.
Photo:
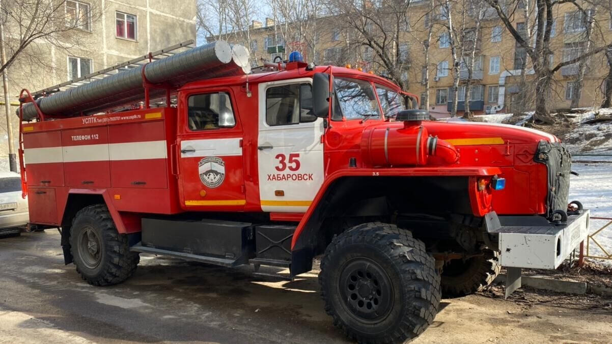
M334 78L334 87L340 109L334 111L335 120L379 119L381 117L376 95L367 81ZM336 112L341 111L341 116Z

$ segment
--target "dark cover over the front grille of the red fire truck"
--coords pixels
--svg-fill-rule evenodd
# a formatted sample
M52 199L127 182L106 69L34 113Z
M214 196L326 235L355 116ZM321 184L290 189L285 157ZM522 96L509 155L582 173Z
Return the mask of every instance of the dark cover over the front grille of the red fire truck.
M550 220L554 211L567 211L572 155L562 143L540 141L534 161L548 168L547 217Z

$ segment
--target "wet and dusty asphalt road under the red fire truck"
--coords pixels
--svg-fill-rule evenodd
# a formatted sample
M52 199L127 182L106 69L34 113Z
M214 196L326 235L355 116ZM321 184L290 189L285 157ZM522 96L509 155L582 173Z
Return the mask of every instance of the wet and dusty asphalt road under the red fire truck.
M277 282L250 267L143 255L131 279L100 288L64 266L56 231L0 239L0 262L0 343L346 343L323 311L316 273ZM572 300L443 300L415 343L610 342L605 302Z

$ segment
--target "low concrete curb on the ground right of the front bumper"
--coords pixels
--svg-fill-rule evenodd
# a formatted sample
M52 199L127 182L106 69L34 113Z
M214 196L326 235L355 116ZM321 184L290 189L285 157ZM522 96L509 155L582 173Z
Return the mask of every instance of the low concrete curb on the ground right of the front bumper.
M493 283L505 283L506 275L499 274ZM530 286L531 288L540 290L556 291L557 293L578 294L586 293L598 294L603 296L612 296L612 287L593 285L587 282L564 281L551 279L545 276L522 276L521 285Z

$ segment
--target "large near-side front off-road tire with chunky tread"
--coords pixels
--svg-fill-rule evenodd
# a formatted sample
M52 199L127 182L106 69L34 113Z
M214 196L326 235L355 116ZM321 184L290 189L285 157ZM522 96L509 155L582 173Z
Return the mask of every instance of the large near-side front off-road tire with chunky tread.
M367 266L364 268L367 279L376 278L376 274L383 275L383 280L388 278L390 283L387 284L392 287L390 290L384 289L391 291L391 305L383 307L381 299L378 304L381 308L376 308L376 312L383 313L380 319L368 320L356 314L361 309L357 308L359 304L353 305L352 309L348 305L354 302L350 300L353 297L350 293L354 292L349 291L349 283L357 276L346 271L351 271L351 266L360 260L368 262L368 265L364 265ZM348 279L343 278L347 275ZM367 283L369 281L365 280ZM383 282L371 285L384 288ZM440 275L436 272L435 260L425 252L425 244L414 239L407 230L380 222L354 226L334 237L321 260L319 283L325 311L334 318L334 325L359 343L402 343L412 340L433 322L441 297ZM341 286L347 283L348 288ZM364 282L360 279L357 283ZM359 298L362 297L361 288L359 286L357 289ZM341 290L345 290L348 297L343 297ZM378 295L381 297L381 294Z

